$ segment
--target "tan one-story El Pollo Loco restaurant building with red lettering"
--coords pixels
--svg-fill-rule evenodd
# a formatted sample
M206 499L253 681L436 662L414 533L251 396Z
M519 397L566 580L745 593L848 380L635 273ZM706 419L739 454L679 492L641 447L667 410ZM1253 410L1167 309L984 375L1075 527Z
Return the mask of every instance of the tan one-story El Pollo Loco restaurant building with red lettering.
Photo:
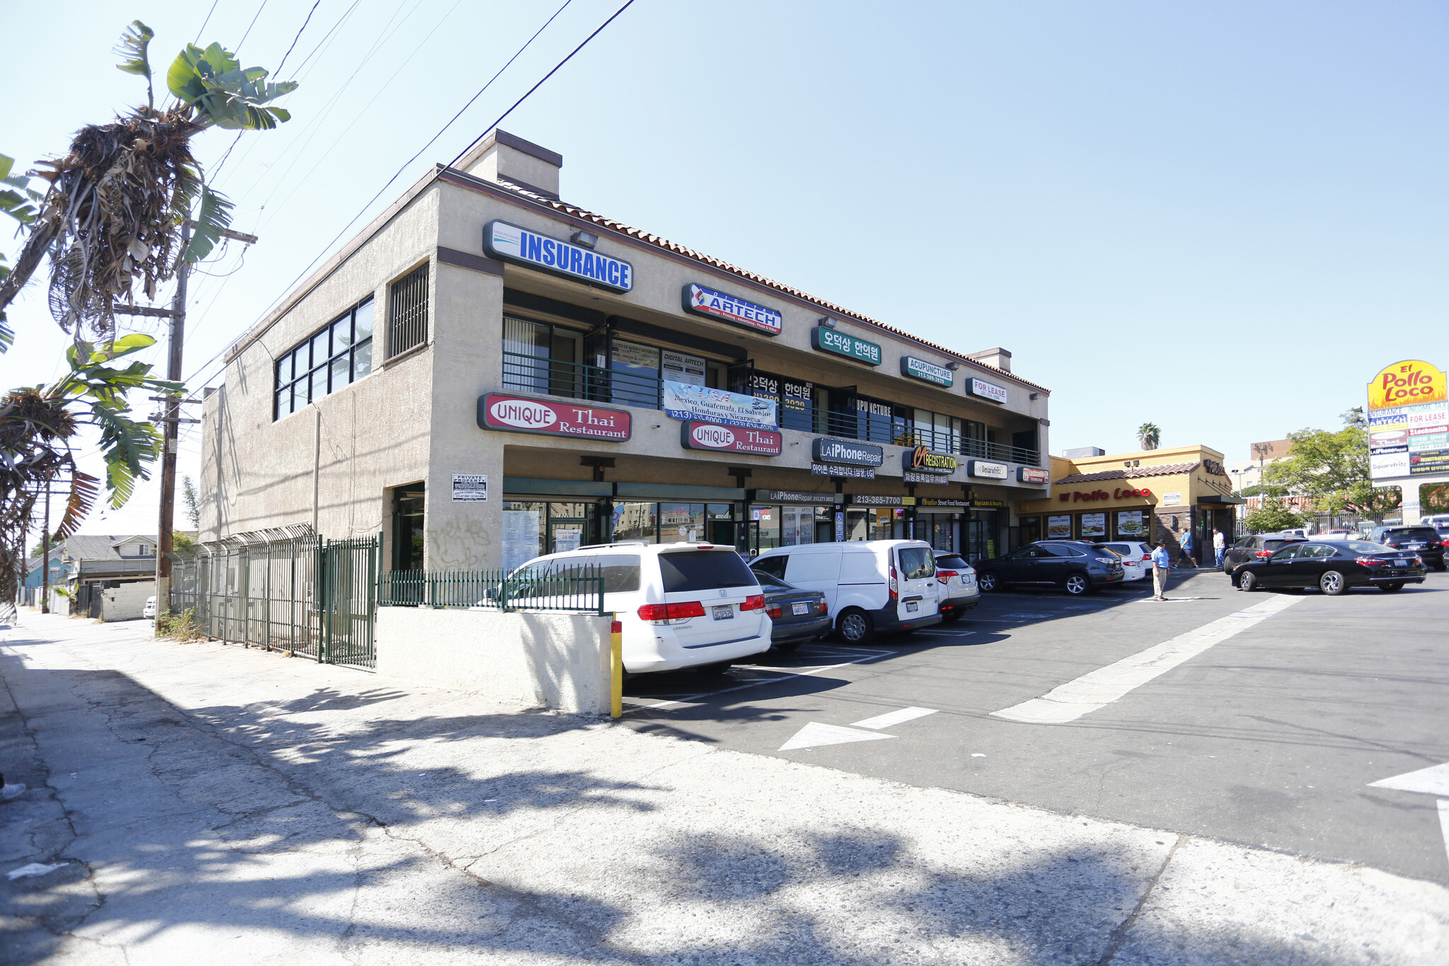
M1016 504L1020 543L1059 540L1165 540L1177 552L1193 532L1198 562L1213 532L1232 542L1233 484L1223 453L1207 446L1051 458L1052 492ZM1210 558L1208 558L1210 559Z

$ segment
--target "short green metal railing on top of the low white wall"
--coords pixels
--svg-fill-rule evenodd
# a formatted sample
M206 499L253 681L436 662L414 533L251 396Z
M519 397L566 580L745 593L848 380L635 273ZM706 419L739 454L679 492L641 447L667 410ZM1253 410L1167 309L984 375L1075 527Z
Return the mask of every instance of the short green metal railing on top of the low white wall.
M601 568L540 566L516 571L388 571L378 607L475 607L501 611L604 613Z

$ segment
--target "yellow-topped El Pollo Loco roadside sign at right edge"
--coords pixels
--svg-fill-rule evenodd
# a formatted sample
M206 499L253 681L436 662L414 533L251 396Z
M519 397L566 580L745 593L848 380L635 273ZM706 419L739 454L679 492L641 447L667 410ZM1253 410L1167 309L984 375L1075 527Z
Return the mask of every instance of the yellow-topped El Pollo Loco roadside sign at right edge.
M1369 476L1443 472L1449 465L1449 378L1406 359L1368 384Z

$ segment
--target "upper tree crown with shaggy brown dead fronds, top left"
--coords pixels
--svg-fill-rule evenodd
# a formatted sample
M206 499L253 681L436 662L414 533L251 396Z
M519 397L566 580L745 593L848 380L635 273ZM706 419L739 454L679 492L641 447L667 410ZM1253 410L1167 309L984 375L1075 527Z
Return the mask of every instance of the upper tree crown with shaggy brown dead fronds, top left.
M167 71L175 101L156 109L146 54L152 36L151 28L135 20L116 48L126 58L117 67L146 78L145 107L109 125L81 127L70 152L32 172L51 187L14 268L0 281L0 313L49 252L55 322L75 339L87 326L101 336L113 332L114 303L135 298L133 282L155 298L180 259L206 258L230 223L232 203L206 185L191 139L210 127L267 130L290 117L267 103L294 91L297 83L268 83L265 70L242 68L219 43L206 49L187 43ZM196 233L177 252L188 217Z

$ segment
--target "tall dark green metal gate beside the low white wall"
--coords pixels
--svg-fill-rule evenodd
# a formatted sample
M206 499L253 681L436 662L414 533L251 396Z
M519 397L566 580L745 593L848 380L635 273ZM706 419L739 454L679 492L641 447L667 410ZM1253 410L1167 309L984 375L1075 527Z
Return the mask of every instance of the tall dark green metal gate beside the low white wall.
M317 550L319 659L333 665L377 663L372 618L383 537L325 540Z

